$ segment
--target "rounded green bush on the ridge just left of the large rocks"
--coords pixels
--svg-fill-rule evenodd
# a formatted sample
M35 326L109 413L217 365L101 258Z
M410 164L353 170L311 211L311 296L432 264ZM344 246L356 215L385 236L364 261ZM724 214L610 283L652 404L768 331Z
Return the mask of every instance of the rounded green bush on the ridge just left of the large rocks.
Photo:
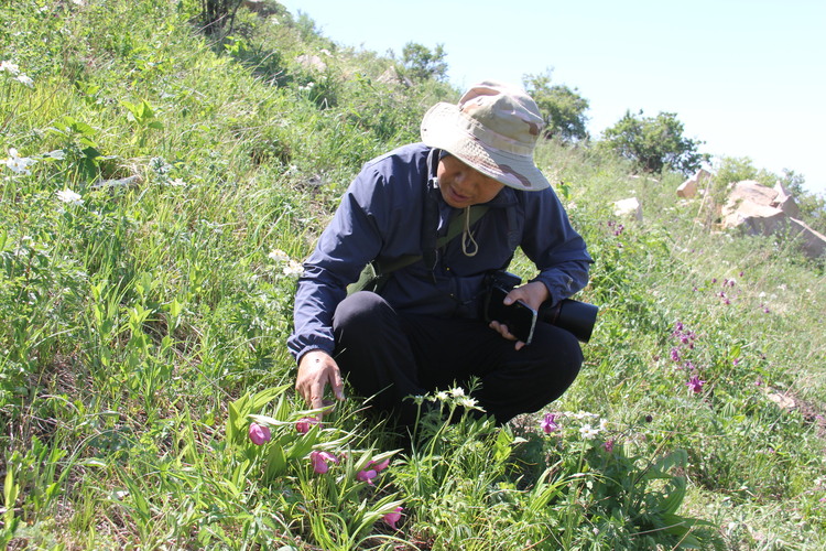
M662 172L671 168L685 175L696 172L710 156L697 152L702 141L683 137L683 123L676 114L661 112L643 117L626 111L626 116L602 132L604 147L634 162L644 172Z

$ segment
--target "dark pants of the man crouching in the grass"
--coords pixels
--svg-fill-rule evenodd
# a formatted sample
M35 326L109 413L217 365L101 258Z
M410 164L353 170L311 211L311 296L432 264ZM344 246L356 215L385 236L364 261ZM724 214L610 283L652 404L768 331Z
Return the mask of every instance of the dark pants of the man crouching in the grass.
M506 423L562 396L583 363L577 339L547 323L539 323L533 343L517 352L485 322L400 313L365 291L338 305L333 328L336 361L350 385L405 425L415 422L417 409L405 397L449 389L454 381L467 388L474 377L481 383L474 398Z

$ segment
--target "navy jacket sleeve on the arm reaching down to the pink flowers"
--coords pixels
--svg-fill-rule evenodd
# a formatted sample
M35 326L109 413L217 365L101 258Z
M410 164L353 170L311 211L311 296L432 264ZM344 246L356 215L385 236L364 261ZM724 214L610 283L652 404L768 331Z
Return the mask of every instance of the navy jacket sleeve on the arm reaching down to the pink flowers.
M350 184L330 224L304 262L293 306L293 333L287 339L296 361L313 349L333 354L333 314L347 296L347 285L358 280L382 245L385 225L381 208L380 176L365 170ZM378 214L376 214L378 210Z

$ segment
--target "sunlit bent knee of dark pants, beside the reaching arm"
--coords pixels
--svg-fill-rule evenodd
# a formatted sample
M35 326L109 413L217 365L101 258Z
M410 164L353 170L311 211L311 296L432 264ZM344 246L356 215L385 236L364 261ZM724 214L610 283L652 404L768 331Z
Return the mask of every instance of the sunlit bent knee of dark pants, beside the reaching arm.
M333 331L336 341L369 341L376 338L392 317L394 311L384 299L376 293L359 291L338 304L333 315Z

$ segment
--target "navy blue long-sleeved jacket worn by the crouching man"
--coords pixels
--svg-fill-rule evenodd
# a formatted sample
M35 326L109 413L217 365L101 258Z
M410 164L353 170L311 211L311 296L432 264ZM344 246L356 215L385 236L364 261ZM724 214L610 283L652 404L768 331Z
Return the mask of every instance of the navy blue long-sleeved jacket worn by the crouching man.
M312 349L333 353L333 313L368 262L421 256L425 218L437 218L434 230L445 235L452 217L464 215L442 198L435 176L438 160L428 162L432 156L422 143L404 145L366 163L350 184L298 280L287 342L296 359ZM428 201L437 205L430 217ZM396 311L476 317L485 274L504 268L517 247L536 264L534 281L547 287L553 303L586 285L591 259L552 188L522 192L506 186L488 206L470 228L479 247L476 256L463 252L459 235L438 251L433 270L423 260L401 268L381 295Z

